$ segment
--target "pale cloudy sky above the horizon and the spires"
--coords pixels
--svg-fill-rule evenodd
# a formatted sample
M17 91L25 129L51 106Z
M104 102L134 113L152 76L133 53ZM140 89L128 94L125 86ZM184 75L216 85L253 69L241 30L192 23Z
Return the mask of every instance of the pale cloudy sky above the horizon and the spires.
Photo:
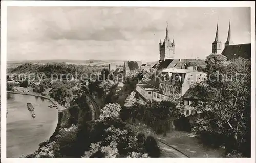
M229 19L234 44L250 43L249 7L8 7L7 60L157 61L166 21L175 59L204 59Z

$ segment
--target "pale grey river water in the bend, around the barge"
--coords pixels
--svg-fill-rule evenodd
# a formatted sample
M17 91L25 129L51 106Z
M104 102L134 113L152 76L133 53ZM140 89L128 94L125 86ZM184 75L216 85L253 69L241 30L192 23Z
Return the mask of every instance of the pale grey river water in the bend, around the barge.
M28 102L35 108L35 118L27 108ZM58 110L48 107L50 104L40 97L7 95L7 157L31 154L41 142L50 138L58 122Z

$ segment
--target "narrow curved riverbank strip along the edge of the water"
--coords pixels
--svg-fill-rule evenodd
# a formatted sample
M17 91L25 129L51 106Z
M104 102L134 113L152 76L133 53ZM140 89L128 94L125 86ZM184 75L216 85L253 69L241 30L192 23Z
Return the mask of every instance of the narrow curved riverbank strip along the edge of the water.
M43 96L40 94L37 94L35 92L15 92L15 91L7 91L7 93L11 93L11 94L19 94L19 95L28 95L28 96L36 96L36 97L41 97L44 99L48 99L51 103L55 104L57 106L57 110L58 110L58 120L57 120L57 125L56 128L54 130L54 132L52 133L52 135L50 136L49 139L46 139L44 142L41 142L40 144L38 144L38 149L41 148L44 144L46 144L49 141L52 141L56 135L58 134L60 128L61 128L61 123L62 123L62 118L63 115L65 114L65 110L67 110L65 107L61 106L58 102L56 102L54 99L49 98L47 96ZM30 155L30 154L29 154Z

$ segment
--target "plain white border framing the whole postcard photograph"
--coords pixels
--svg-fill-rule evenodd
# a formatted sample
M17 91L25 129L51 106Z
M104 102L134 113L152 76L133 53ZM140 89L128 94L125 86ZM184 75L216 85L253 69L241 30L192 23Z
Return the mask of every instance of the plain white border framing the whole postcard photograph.
M133 158L136 162L255 162L255 2L252 1L1 1L1 162L129 162L130 158L6 158L8 6L251 7L251 158Z

